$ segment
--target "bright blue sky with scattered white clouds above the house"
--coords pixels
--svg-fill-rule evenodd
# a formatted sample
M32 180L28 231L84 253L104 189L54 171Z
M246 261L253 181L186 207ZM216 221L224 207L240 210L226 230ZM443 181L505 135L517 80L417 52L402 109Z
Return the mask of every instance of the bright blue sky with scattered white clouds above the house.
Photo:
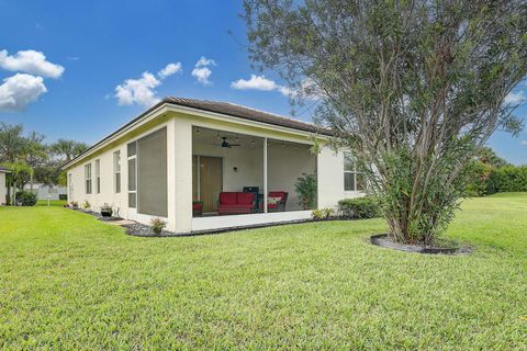
M3 105L0 99L0 121L22 123L48 141L92 144L165 95L290 115L276 73L250 79L257 72L242 11L238 1L217 0L0 0L0 98L2 89L16 98ZM515 94L523 100L527 86ZM310 121L311 112L301 107L296 117ZM516 114L526 116L527 105ZM527 163L527 131L517 138L496 133L490 145Z

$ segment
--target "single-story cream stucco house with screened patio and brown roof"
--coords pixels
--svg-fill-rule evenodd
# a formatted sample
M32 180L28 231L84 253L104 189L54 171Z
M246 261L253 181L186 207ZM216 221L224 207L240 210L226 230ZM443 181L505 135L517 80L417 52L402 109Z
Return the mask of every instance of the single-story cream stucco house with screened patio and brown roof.
M316 177L318 208L361 195L360 174L330 137L237 104L165 98L65 165L68 199L144 224L160 217L175 233L304 219L303 173Z

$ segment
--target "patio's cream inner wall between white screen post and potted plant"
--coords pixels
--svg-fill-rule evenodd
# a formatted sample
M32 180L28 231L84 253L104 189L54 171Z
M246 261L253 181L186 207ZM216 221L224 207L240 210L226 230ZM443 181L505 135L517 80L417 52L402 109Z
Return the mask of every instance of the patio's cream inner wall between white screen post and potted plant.
M303 210L294 191L302 173L316 172L316 156L305 145L272 144L267 149L267 188L269 191L287 191L285 211Z

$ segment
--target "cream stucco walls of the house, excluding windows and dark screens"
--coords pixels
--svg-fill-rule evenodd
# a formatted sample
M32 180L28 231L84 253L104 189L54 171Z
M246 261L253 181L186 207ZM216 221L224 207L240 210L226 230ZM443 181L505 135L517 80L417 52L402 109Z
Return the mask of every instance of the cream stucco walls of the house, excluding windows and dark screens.
M126 144L138 139L157 128L167 127L167 179L168 179L168 222L167 229L178 233L192 230L192 155L222 156L222 149L210 145L192 147L192 126L247 134L256 137L302 143L304 150L295 148L270 147L268 149L268 190L290 190L288 210L298 210L294 182L302 172L316 170L318 181L318 207L334 207L338 200L357 196L355 192L344 192L344 157L323 148L316 157L307 151L311 141L309 135L272 131L265 126L244 123L217 121L199 115L187 115L172 112L160 112L162 115L138 125L134 131L116 138L109 146L94 152L89 158L68 169L71 183L68 184L69 201L79 205L88 200L94 211L109 203L120 208L124 218L148 224L152 216L137 214L127 207L127 160ZM121 193L114 192L113 152L121 150ZM243 152L251 154L247 158ZM225 155L224 155L225 156ZM262 149L229 149L229 157L224 159L224 189L239 190L243 185L258 185L264 189ZM100 159L101 192L96 192L94 160ZM92 194L86 194L85 165L92 163ZM234 167L238 171L234 172ZM294 173L294 174L293 174ZM68 178L69 181L69 178Z

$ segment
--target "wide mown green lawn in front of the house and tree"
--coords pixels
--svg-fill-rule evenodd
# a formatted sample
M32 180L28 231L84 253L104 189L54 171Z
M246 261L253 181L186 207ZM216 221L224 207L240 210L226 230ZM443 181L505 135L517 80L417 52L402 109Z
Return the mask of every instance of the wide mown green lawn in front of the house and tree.
M0 208L0 349L526 350L527 193L466 201L470 256L368 244L381 219L137 238Z

